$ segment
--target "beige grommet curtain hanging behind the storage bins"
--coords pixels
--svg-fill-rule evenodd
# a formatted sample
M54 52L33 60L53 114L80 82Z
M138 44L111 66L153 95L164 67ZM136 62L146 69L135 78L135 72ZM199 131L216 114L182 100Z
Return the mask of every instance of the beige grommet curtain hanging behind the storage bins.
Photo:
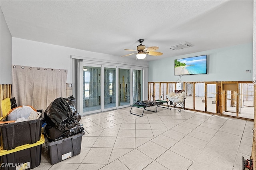
M12 66L12 97L18 106L45 109L58 97L66 98L67 70Z

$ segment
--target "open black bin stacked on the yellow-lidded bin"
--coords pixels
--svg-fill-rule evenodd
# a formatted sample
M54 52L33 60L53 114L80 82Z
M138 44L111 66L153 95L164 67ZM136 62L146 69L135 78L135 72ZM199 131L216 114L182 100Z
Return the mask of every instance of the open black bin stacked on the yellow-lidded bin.
M38 112L43 113L43 110L38 110ZM40 119L1 125L1 140L4 150L40 140L43 120L44 114Z

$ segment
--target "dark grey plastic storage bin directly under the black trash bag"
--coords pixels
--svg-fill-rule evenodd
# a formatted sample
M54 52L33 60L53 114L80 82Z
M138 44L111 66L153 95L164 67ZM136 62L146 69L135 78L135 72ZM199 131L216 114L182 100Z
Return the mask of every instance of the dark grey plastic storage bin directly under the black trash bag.
M52 142L46 137L45 145L48 147L51 164L56 164L62 160L80 154L83 135L84 131Z

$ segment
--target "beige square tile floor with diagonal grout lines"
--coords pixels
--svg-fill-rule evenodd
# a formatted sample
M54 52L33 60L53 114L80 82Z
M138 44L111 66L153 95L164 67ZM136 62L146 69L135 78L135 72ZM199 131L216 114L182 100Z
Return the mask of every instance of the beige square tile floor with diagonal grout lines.
M142 109L135 108L141 113ZM252 121L159 108L130 107L82 117L81 153L50 164L42 145L36 170L241 170L252 150Z

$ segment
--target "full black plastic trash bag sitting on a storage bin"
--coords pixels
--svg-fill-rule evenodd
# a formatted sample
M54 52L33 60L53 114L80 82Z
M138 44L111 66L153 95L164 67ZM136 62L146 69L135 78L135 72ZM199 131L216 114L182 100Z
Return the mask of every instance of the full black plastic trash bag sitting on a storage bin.
M44 112L46 121L46 136L52 140L70 136L83 131L79 121L81 115L76 111L75 98L59 97L47 107Z

